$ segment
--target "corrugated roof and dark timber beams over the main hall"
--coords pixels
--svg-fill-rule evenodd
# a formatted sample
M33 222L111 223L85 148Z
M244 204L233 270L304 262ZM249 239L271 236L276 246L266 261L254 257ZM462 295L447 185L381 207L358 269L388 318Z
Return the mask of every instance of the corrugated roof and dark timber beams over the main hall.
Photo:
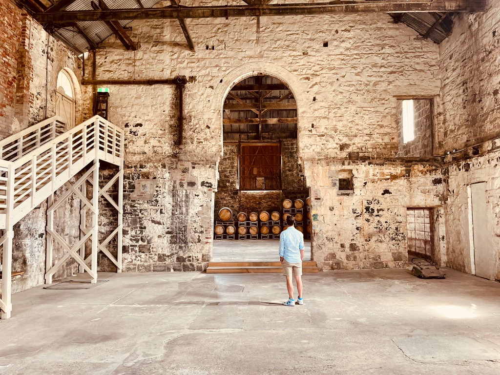
M300 1L304 0L287 0L284 3L277 3L277 0L230 0L227 5L217 5L220 2L214 1L216 5L184 6L180 5L178 0L171 0L168 6L155 7L158 0L104 0L104 4L109 8L105 10L102 7L92 7L90 0L17 0L75 52L95 48L113 32L116 35L125 33L120 27L124 28L134 19L178 20L186 38L186 47L194 50L194 43L185 22L187 18L359 12L389 13L395 22L406 23L422 37L440 43L451 31L454 13L481 11L485 8L485 0ZM98 1L95 0L95 3L98 4ZM104 21L107 21L108 25ZM114 30L109 26L110 21L116 26ZM123 44L125 48L133 49L129 41Z

